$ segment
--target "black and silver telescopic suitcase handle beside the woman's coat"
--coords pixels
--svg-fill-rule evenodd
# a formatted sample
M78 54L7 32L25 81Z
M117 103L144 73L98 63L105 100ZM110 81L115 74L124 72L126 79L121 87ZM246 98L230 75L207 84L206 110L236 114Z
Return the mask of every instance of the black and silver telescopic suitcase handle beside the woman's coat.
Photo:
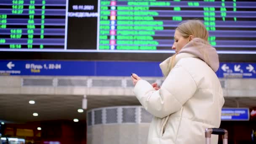
M222 128L206 128L205 129L205 139L206 144L211 144L211 134L222 135L223 144L227 144L228 132Z

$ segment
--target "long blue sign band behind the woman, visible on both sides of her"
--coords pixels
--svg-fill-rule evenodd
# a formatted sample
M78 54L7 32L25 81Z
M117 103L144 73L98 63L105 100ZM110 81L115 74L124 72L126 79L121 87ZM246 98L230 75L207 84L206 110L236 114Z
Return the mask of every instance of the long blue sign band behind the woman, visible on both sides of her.
M0 61L0 75L162 77L160 62L136 61ZM256 63L221 63L220 78L256 78Z

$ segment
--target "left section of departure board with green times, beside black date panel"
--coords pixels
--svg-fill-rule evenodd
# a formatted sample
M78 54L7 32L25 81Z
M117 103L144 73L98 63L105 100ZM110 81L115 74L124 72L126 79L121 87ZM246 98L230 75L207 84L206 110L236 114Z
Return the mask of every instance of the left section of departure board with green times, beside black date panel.
M0 47L64 50L65 21L65 0L0 0Z

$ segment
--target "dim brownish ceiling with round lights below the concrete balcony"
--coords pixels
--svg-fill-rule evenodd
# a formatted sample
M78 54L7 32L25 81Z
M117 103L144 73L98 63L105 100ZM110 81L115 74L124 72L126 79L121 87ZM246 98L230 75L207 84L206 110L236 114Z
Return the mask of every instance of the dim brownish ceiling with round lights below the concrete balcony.
M124 105L140 105L135 96L87 96L88 109ZM34 100L35 104L29 104ZM25 123L41 120L85 120L83 96L73 95L0 95L0 120ZM224 107L256 107L256 98L225 97ZM39 116L33 116L37 112Z

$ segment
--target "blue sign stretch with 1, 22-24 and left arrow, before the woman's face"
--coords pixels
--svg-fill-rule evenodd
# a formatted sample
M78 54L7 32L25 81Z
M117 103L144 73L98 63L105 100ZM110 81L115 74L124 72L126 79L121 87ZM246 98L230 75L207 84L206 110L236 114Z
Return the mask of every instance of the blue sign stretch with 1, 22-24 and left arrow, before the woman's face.
M0 75L161 77L159 62L0 61Z

